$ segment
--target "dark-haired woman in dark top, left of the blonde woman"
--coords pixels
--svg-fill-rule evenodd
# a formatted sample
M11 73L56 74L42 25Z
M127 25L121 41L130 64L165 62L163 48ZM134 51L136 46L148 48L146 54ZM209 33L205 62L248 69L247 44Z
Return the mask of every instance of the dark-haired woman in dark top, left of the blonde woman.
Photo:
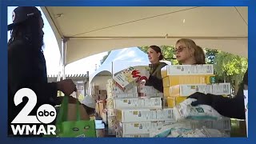
M147 50L147 55L150 60L150 78L146 81L146 86L153 86L156 90L163 92L161 69L166 66L165 62L160 62L163 55L160 47L150 46Z

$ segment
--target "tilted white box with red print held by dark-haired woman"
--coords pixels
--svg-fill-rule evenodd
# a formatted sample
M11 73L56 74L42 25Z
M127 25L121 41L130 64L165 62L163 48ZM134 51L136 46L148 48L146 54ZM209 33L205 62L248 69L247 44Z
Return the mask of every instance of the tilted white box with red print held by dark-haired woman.
M122 87L122 90L129 90L132 88L132 82L137 82L140 79L147 79L150 76L149 66L130 66L114 74L114 81Z

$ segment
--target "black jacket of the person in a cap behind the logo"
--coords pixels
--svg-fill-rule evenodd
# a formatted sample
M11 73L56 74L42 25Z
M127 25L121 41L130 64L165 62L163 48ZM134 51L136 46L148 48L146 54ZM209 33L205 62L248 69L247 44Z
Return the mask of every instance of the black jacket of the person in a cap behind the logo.
M18 106L14 105L14 94L22 89L30 88L37 94L37 104L30 112L36 115L42 104L55 105L57 99L57 84L47 82L46 61L41 47L34 47L26 39L15 40L8 44L8 133L10 122L26 105L28 98Z

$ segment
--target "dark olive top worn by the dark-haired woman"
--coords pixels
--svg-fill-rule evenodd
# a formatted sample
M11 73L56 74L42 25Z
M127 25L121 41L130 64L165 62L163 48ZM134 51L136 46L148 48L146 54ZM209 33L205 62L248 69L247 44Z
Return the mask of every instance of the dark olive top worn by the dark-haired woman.
M146 86L153 86L156 90L163 92L161 69L166 66L165 62L150 64L150 78L146 81Z

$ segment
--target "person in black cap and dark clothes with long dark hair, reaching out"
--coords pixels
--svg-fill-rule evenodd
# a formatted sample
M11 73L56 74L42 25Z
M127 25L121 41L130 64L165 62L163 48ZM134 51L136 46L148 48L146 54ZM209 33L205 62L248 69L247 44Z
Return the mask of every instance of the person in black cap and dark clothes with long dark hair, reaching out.
M28 102L15 106L14 94L22 88L30 88L37 95L37 104L30 114L36 115L39 106L55 106L62 101L58 90L70 95L76 90L71 79L47 82L46 61L42 51L44 23L41 12L34 6L19 6L12 14L13 23L8 42L8 134L12 135L11 122ZM70 102L75 98L69 97Z

